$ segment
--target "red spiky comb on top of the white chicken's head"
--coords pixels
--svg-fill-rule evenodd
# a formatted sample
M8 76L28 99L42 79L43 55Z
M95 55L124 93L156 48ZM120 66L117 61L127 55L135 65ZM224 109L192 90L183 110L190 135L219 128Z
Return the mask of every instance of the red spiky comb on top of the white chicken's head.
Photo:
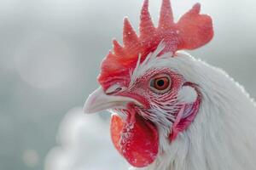
M200 8L201 5L196 3L174 23L170 0L162 0L159 26L154 27L148 12L148 0L144 0L140 17L140 36L137 36L129 20L125 18L123 46L113 40L113 51L102 61L99 82L103 85L114 78L128 81L129 71L137 64L139 54L143 61L161 41L166 45L163 52L173 53L180 49L195 49L205 45L213 37L212 19L206 14L199 14ZM104 87L107 88L106 86Z

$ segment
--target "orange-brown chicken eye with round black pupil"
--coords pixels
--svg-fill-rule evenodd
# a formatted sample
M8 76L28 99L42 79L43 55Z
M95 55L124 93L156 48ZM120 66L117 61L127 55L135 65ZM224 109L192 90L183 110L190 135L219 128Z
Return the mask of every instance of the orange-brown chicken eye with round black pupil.
M170 77L161 75L150 81L150 88L157 94L165 94L171 88Z

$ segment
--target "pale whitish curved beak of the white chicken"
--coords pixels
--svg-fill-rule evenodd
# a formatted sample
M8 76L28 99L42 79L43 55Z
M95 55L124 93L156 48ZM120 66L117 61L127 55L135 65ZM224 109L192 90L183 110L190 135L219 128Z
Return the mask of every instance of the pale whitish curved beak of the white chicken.
M142 105L136 99L124 96L114 96L105 94L102 88L97 88L89 95L84 104L84 113L96 113L107 109L120 108L125 109L128 103Z

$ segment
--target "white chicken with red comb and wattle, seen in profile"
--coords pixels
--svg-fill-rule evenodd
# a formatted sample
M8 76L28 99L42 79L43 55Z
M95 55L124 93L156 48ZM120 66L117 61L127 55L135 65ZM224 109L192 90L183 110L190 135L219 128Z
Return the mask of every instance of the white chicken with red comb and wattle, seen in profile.
M174 23L163 0L154 27L143 3L140 35L125 19L124 45L102 62L84 112L113 112L115 148L134 169L254 170L256 105L224 71L186 54L212 39L200 4Z

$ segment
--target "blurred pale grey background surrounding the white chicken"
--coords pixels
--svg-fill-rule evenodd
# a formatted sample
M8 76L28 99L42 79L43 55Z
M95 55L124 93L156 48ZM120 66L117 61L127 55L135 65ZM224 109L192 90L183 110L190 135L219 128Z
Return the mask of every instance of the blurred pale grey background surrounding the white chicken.
M227 71L256 98L256 1L172 0L176 19L202 4L215 37L191 51ZM143 0L0 0L0 169L125 169L108 113L84 115L102 58L135 28ZM160 0L150 1L157 23Z

